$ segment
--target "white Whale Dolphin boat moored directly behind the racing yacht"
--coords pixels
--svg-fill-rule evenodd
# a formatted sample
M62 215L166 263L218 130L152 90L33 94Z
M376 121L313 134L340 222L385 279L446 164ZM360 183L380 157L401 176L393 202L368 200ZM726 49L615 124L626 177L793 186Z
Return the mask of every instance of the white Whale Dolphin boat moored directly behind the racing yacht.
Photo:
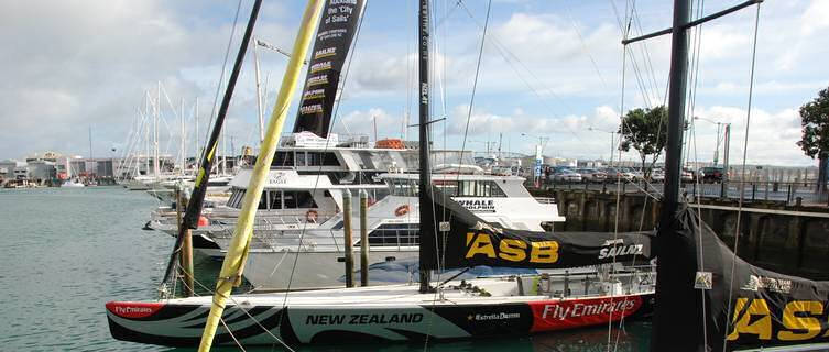
M454 169L475 168L460 166ZM416 262L421 223L417 174L390 173L379 175L378 178L383 182L389 196L368 208L369 263ZM523 177L433 174L432 178L433 184L452 195L455 201L487 222L510 229L544 231L552 229L554 222L565 221L552 199L538 199L530 195L524 187ZM318 191L321 193L321 189L324 188ZM342 190L345 189L338 190L339 197L342 196ZM263 199L271 198L274 194L279 195L279 191L268 191ZM338 201L341 202L341 198ZM359 257L362 245L359 237L359 202L352 204L352 244L354 255ZM244 277L259 289L342 286L346 215L326 213L330 217L321 223L303 222L299 218L291 228L282 224L260 226L251 240ZM273 226L273 229L268 226ZM232 227L225 231L204 232L200 237L199 241L214 242L223 252L230 243ZM414 271L414 266L406 270ZM396 278L392 282L372 279L372 284L397 282Z

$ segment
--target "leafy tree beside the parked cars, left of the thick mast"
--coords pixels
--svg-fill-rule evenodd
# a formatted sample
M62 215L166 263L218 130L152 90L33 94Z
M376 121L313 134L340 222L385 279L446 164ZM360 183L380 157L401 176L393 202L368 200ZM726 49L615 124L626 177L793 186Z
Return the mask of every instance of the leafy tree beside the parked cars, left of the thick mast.
M622 119L622 125L619 128L622 143L619 148L628 152L633 147L639 152L645 176L651 173L656 160L665 150L668 140L667 122L668 109L665 106L653 109L636 108L628 111L628 114ZM653 155L651 165L645 167L650 155Z

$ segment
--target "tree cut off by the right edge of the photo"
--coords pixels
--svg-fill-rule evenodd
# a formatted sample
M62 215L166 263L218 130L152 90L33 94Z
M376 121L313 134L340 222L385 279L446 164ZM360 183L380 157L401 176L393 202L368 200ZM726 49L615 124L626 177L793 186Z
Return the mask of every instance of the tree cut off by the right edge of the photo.
M803 138L797 145L806 155L818 158L818 193L826 191L827 161L829 161L829 88L818 92L815 100L800 107Z

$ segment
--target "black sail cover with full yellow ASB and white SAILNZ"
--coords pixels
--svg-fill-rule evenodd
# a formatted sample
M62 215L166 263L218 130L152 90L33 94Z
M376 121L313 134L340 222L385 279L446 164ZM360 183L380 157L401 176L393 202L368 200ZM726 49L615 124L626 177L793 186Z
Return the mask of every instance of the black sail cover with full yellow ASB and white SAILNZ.
M421 260L426 268L457 268L476 265L564 268L617 262L647 263L652 258L652 235L645 232L554 233L503 229L488 223L433 187L435 221L448 222L448 231L421 234L421 245L434 248ZM424 219L423 221L430 221ZM444 229L446 224L444 224ZM438 229L440 226L437 227ZM444 253L439 258L437 253Z

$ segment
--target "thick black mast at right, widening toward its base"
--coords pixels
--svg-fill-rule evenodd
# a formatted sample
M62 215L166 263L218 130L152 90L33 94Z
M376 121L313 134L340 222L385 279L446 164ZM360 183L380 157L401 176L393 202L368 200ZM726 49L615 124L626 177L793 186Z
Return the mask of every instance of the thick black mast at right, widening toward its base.
M670 45L670 90L668 91L668 140L665 148L665 196L659 215L656 308L653 318L652 351L697 351L701 345L700 292L688 284L689 263L683 263L683 239L674 228L679 206L679 180L685 125L685 97L688 74L689 0L674 0Z

